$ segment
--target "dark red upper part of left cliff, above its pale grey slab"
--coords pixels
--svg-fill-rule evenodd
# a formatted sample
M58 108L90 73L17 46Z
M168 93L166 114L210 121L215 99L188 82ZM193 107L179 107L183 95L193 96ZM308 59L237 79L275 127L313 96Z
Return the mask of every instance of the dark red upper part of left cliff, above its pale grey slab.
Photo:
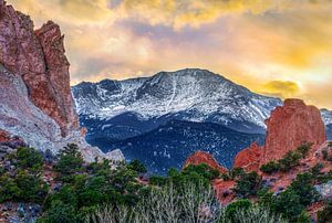
M77 129L59 25L48 22L34 32L28 15L0 0L0 63L22 76L30 99L58 123L63 136Z

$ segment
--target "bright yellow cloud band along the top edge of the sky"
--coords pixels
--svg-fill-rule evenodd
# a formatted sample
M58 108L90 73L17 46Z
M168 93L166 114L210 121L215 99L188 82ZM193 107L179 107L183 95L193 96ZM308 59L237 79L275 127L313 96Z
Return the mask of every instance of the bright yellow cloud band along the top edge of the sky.
M284 7L286 0L124 0L120 8L126 17L180 29L198 28L229 14L259 14Z

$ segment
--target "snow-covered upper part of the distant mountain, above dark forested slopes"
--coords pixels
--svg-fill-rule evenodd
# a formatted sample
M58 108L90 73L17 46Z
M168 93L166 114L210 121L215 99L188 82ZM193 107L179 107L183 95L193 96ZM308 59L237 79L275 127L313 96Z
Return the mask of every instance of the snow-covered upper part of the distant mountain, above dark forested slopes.
M110 120L135 114L142 121L173 116L189 121L211 121L242 130L263 131L264 119L282 102L250 92L206 70L160 72L152 77L81 83L72 88L80 116ZM239 129L237 129L239 128ZM247 131L250 131L248 127Z

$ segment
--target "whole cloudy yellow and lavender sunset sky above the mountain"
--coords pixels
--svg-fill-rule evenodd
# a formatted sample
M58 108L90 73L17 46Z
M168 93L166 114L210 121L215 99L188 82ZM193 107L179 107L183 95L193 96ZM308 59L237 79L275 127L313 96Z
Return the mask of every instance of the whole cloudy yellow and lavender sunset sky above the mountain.
M332 0L8 0L65 35L72 84L206 68L332 109Z

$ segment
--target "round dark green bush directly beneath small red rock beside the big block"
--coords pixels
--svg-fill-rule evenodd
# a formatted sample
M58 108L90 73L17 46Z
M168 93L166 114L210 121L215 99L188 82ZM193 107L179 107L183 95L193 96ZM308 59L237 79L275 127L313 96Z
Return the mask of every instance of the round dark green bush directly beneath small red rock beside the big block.
M245 173L238 180L236 180L236 187L234 188L234 191L239 198L256 195L260 189L260 180L261 178L255 171Z

